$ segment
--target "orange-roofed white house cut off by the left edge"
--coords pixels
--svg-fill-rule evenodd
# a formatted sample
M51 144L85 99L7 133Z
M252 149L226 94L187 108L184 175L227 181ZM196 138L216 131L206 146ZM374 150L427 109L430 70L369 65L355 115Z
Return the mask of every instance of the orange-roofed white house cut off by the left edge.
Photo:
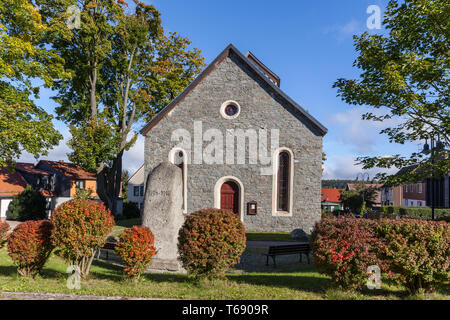
M26 186L27 182L19 172L0 167L0 218L6 218L9 203Z

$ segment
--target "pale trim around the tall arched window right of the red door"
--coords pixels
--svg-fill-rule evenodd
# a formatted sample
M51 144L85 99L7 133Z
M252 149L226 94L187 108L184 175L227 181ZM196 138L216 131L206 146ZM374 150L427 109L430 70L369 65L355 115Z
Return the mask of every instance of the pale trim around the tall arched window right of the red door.
M288 211L278 211L277 208L277 182L278 182L278 157L281 152L289 153L289 194ZM294 153L291 149L281 147L275 150L272 158L272 216L274 217L292 217L293 194L294 194Z

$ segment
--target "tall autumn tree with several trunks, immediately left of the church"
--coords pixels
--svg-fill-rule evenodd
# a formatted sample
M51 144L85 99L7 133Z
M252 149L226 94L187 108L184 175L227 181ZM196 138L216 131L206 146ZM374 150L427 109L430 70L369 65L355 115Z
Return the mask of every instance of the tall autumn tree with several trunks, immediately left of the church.
M69 159L97 173L97 193L115 214L122 156L148 121L202 70L187 38L165 35L158 10L134 1L83 0L80 28L69 29L72 0L39 0L49 26L44 43L64 59L71 77L52 89L58 118L70 124Z

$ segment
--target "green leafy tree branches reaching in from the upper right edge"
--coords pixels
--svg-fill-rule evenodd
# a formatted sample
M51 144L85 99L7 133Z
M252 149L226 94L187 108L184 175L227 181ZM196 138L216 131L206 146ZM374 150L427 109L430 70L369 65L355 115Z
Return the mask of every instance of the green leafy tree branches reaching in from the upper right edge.
M445 156L450 145L449 12L448 0L391 0L383 21L387 36L354 36L360 78L334 83L345 102L375 109L363 119L396 123L380 132L389 142L416 143L438 135L442 140L434 149L409 157L358 158L363 169L418 165L418 170L399 175L379 174L382 183L395 186L450 171Z

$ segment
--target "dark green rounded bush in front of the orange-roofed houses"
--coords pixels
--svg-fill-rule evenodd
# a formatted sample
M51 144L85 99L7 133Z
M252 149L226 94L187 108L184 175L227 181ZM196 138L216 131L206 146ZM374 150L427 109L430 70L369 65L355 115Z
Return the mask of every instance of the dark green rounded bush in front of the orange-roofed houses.
M27 185L24 191L16 195L8 206L8 219L10 220L42 220L47 218L47 201L39 192Z

